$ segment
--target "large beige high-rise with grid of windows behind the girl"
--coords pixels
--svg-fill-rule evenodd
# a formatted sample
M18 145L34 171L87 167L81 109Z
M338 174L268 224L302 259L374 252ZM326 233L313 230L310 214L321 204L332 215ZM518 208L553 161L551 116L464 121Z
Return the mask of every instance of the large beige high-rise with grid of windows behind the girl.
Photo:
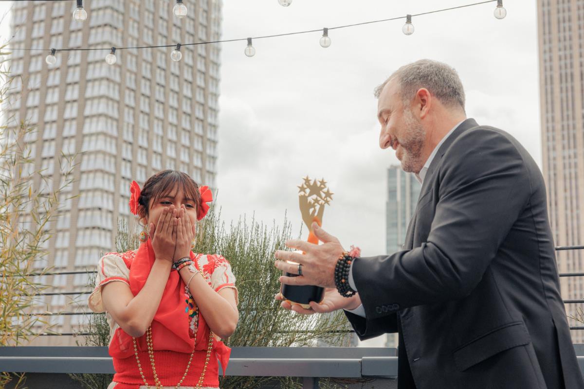
M176 169L195 181L215 185L217 99L220 46L182 46L182 60L171 61L173 48L128 48L105 61L110 47L176 45L219 40L221 0L190 0L188 15L178 19L169 0L92 0L88 19L72 18L72 1L15 2L12 15L13 75L22 82L8 115L37 126L26 139L34 170L46 168L47 190L60 182L61 153L79 153L74 183L61 195L61 211L50 226L48 255L38 267L81 271L95 267L115 249L117 221L133 230L128 209L130 182L140 185L155 171ZM48 51L23 48L106 48ZM35 178L34 185L42 185ZM52 186L52 187L51 187ZM43 276L50 292L87 290L88 275ZM69 298L71 297L71 298ZM46 296L53 312L86 311L87 295ZM79 306L69 304L81 302ZM45 310L46 307L39 309ZM51 316L54 331L71 332L83 316ZM54 337L46 344L67 344Z

